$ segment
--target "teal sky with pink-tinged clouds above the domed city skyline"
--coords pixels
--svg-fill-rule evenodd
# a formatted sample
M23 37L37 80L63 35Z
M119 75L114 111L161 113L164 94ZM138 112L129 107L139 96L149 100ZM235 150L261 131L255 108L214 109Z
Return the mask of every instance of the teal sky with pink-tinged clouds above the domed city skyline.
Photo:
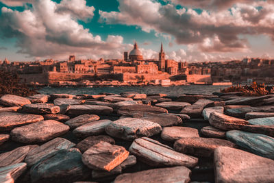
M0 60L274 58L274 0L0 0Z

